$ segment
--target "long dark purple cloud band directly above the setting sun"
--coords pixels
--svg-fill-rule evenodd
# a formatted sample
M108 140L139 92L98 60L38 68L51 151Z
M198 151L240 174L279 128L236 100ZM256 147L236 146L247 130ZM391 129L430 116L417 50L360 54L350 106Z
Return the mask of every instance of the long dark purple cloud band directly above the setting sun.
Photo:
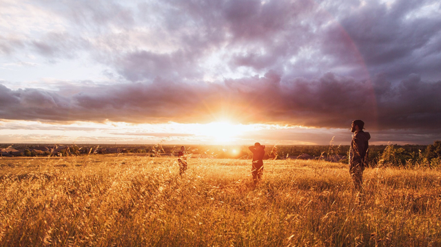
M197 87L196 87L197 85ZM369 81L325 74L317 80L283 81L264 77L225 83L177 83L157 79L88 87L72 96L41 89L0 87L0 118L70 121L274 122L346 128L362 118L371 129L439 129L441 81L411 75L393 86L384 78ZM61 92L62 93L62 92ZM378 121L378 122L377 122Z

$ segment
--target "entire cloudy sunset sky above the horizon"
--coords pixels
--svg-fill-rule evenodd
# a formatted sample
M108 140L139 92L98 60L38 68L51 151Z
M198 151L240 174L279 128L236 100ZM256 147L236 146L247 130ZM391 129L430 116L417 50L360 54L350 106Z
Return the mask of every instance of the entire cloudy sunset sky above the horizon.
M441 2L0 0L0 142L441 140Z

